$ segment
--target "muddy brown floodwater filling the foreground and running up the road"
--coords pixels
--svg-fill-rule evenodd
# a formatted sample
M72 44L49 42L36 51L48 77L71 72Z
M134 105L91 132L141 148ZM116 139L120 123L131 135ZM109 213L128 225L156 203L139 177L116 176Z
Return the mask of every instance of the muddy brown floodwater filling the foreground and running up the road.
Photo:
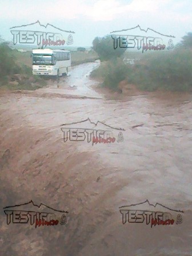
M93 89L97 65L74 67L59 88L1 94L2 256L192 255L192 95L110 99ZM88 117L125 129L124 141L63 142L61 125ZM31 200L69 211L67 224L7 225L3 207ZM146 200L184 211L182 223L123 225L119 207Z

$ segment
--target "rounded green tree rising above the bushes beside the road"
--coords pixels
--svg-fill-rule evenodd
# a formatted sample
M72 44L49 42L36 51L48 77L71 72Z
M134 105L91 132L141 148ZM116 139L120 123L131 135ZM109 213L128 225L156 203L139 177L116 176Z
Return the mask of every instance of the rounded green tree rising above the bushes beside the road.
M111 35L105 37L95 37L93 41L93 50L99 55L101 61L107 61L112 58L120 57L126 48L117 47L114 49L114 40Z

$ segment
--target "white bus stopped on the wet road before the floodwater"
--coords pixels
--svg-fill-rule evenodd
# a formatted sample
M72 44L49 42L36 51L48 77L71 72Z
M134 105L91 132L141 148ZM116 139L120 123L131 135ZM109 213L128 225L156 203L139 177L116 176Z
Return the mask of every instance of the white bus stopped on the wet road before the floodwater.
M33 49L33 75L63 75L71 70L71 54L66 50Z

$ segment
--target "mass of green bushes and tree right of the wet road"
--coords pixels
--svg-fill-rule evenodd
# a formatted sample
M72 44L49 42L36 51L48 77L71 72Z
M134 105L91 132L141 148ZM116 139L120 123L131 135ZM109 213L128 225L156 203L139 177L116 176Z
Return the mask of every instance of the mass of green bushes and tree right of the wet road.
M113 51L107 51L110 54L108 58L106 53L102 55L107 46ZM126 80L145 91L192 91L192 33L185 35L173 50L145 54L126 51L114 56L117 49L109 46L106 38L102 39L102 44L94 39L93 47L101 56L101 66L91 73L91 77L101 78L105 87L117 91L118 83ZM123 58L136 60L134 65L130 65L124 63Z

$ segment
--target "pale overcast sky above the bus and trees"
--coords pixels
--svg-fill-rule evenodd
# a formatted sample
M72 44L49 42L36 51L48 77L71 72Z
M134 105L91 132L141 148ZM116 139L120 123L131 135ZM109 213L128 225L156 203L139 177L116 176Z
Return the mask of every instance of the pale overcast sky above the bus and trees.
M192 0L0 0L0 35L12 40L10 27L39 20L75 31L73 46L91 46L97 36L137 25L178 42L192 31L191 13Z

